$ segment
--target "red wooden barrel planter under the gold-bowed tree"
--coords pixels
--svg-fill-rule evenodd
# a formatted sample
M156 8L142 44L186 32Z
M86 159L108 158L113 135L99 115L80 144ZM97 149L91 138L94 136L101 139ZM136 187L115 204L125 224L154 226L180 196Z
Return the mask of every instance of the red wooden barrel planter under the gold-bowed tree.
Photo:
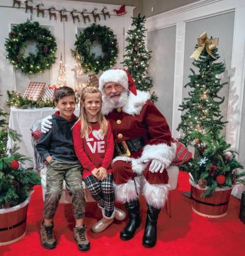
M192 210L204 217L223 217L227 215L227 207L232 188L217 190L211 197L201 197L204 190L191 185Z

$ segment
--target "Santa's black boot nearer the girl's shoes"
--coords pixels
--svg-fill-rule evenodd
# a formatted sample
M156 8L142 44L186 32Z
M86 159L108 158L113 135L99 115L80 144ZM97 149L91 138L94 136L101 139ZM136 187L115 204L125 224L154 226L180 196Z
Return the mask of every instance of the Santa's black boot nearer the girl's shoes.
M138 200L131 201L124 204L128 211L128 223L121 231L120 238L123 240L129 240L133 238L136 229L140 226L140 203Z

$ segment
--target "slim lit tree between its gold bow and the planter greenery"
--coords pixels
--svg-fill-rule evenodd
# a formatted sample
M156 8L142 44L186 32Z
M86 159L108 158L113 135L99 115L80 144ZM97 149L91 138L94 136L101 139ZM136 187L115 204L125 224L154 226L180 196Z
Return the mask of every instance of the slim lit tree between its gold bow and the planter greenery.
M211 40L217 41L217 39ZM227 84L227 82L221 83L221 79L218 78L218 75L224 72L225 66L221 62L215 62L220 56L217 53L217 47L209 50L210 46L214 48L211 40L209 40L209 44L204 43L204 48L196 46L195 52L203 48L201 55L196 57L193 62L193 65L198 68L198 72L191 68L190 81L185 85L185 88L190 87L191 91L179 105L179 110L183 114L177 130L181 130L182 135L179 141L185 145L191 144L191 133L194 130L215 137L215 132L222 130L224 124L227 123L222 120L223 115L220 110L220 104L224 102L224 97L218 96L220 89Z

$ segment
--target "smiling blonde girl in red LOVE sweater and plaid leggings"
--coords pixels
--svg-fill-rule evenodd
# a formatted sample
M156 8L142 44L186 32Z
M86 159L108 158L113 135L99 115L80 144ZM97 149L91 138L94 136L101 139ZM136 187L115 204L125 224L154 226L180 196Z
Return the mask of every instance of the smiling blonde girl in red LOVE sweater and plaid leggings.
M80 114L72 129L73 143L91 196L102 209L102 219L92 226L95 233L104 231L125 213L114 207L111 161L114 140L111 125L101 113L102 94L96 87L85 87L80 97Z

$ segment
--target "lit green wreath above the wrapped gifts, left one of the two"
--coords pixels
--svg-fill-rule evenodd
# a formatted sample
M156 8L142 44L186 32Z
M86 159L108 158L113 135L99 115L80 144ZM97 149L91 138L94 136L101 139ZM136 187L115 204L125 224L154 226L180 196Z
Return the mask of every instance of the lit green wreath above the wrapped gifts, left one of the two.
M30 53L28 56L24 56L22 49L27 47L27 40L37 41L36 55ZM9 62L16 69L29 75L50 69L56 60L56 40L49 30L40 27L36 21L15 25L9 33L9 38L5 40L5 47Z

